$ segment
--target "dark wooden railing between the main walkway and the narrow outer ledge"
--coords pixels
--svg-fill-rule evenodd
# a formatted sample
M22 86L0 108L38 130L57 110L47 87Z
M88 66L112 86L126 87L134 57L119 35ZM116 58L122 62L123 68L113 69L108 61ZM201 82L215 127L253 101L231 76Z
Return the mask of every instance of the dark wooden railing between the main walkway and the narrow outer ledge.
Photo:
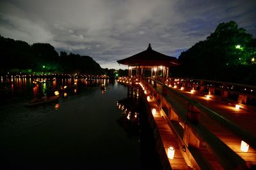
M145 83L146 86L148 86L149 88L156 90L158 94L160 94L166 101L168 101L168 103L171 104L172 109L178 115L179 119L181 119L184 122L184 124L186 124L188 128L191 129L193 134L195 134L195 136L200 141L204 141L205 143L207 143L209 149L211 150L212 153L214 153L214 155L218 157L218 160L219 162L221 162L221 165L223 167L227 169L237 167L243 169L248 168L248 166L246 166L246 162L243 159L241 159L241 157L239 157L239 155L237 155L236 152L234 152L225 143L223 143L223 141L221 141L214 134L212 134L212 132L205 128L204 125L200 124L200 122L196 122L195 119L191 118L191 116L189 116L189 112L198 111L198 114L202 113L205 115L205 117L209 117L212 120L219 122L223 127L234 132L234 134L236 134L238 138L243 139L243 141L246 141L246 143L252 146L252 148L256 148L255 136L244 131L244 129L241 129L241 127L238 127L236 124L230 122L226 118L221 117L221 115L218 115L218 113L210 110L209 108L206 108L200 103L196 103L195 101L189 99L180 92L177 92L177 90L169 88L164 83L161 83L152 78L147 78L145 81L143 81L143 83ZM180 108L179 104L173 101L173 99L171 99L170 96L166 96L166 90L167 92L170 91L173 94L175 94L175 96L179 97L179 99L184 101L184 103L187 103L188 108ZM172 122L170 123L172 124Z

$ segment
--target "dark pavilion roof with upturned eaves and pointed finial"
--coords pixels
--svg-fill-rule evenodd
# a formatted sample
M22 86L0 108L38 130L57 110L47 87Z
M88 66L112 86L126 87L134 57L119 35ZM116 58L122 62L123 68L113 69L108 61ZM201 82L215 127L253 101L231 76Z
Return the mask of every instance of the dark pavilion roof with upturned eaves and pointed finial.
M176 57L170 57L163 53L152 50L151 45L148 45L147 50L117 61L119 64L129 66L175 66L179 65Z

